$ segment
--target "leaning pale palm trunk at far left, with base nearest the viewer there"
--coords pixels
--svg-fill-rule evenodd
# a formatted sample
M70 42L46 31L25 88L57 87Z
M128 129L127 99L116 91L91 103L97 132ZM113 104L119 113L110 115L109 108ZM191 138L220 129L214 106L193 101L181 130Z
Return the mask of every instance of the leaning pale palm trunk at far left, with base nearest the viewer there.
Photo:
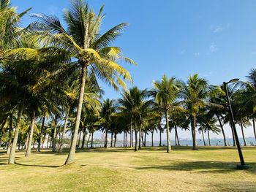
M16 123L16 128L15 128L15 134L14 134L14 138L12 141L12 148L11 148L11 152L9 155L9 160L8 160L8 164L15 164L15 150L17 147L17 142L18 142L18 135L19 135L19 131L20 131L20 119L23 113L23 107L24 107L24 101L25 99L23 99L22 101L20 101L19 107L18 107L18 117L17 117L17 123Z

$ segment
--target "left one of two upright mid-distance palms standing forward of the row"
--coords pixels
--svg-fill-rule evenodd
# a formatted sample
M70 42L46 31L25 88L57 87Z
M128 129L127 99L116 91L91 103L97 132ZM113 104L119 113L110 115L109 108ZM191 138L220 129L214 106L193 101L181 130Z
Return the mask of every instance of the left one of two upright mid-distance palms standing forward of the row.
M178 97L180 88L178 88L178 81L175 77L168 78L166 75L162 77L161 81L154 82L154 88L150 92L154 96L155 101L161 107L162 112L165 113L166 134L167 134L167 153L170 152L170 128L168 112L174 107L174 101Z

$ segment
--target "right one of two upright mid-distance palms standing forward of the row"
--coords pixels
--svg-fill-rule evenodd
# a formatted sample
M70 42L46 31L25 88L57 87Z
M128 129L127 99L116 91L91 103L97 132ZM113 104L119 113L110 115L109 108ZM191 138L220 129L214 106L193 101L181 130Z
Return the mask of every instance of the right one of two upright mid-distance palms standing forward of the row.
M183 98L184 108L190 118L193 150L197 150L196 139L196 119L201 108L206 105L206 97L208 95L208 82L194 74L189 77L187 84L183 84L181 97Z

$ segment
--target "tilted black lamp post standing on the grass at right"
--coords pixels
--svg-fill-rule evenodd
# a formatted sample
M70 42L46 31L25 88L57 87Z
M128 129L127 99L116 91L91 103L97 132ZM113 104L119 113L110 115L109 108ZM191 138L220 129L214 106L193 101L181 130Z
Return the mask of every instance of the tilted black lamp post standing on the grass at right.
M236 125L235 125L235 121L234 121L234 116L233 116L233 110L230 104L230 96L228 95L228 91L227 91L227 84L232 83L232 82L237 82L239 79L233 79L230 80L229 82L223 82L224 88L225 88L225 93L226 93L226 97L227 97L227 104L228 104L228 109L230 112L230 118L231 118L231 125L233 128L233 132L234 132L234 137L235 137L235 142L236 142L236 146L237 146L237 150L238 150L238 154L239 154L239 158L240 158L240 162L241 165L237 165L236 169L248 169L249 166L247 166L244 162L244 156L241 150L241 146L240 146L240 142L238 140L238 134L236 131Z

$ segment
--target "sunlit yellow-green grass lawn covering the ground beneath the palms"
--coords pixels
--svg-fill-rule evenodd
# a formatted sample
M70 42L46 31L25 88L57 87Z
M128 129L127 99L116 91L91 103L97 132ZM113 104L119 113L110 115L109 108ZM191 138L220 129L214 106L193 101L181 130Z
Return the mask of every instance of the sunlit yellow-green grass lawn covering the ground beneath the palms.
M7 165L2 152L0 191L256 191L256 147L243 152L251 169L234 169L233 147L78 150L69 166L61 166L67 153L18 152L17 164Z

